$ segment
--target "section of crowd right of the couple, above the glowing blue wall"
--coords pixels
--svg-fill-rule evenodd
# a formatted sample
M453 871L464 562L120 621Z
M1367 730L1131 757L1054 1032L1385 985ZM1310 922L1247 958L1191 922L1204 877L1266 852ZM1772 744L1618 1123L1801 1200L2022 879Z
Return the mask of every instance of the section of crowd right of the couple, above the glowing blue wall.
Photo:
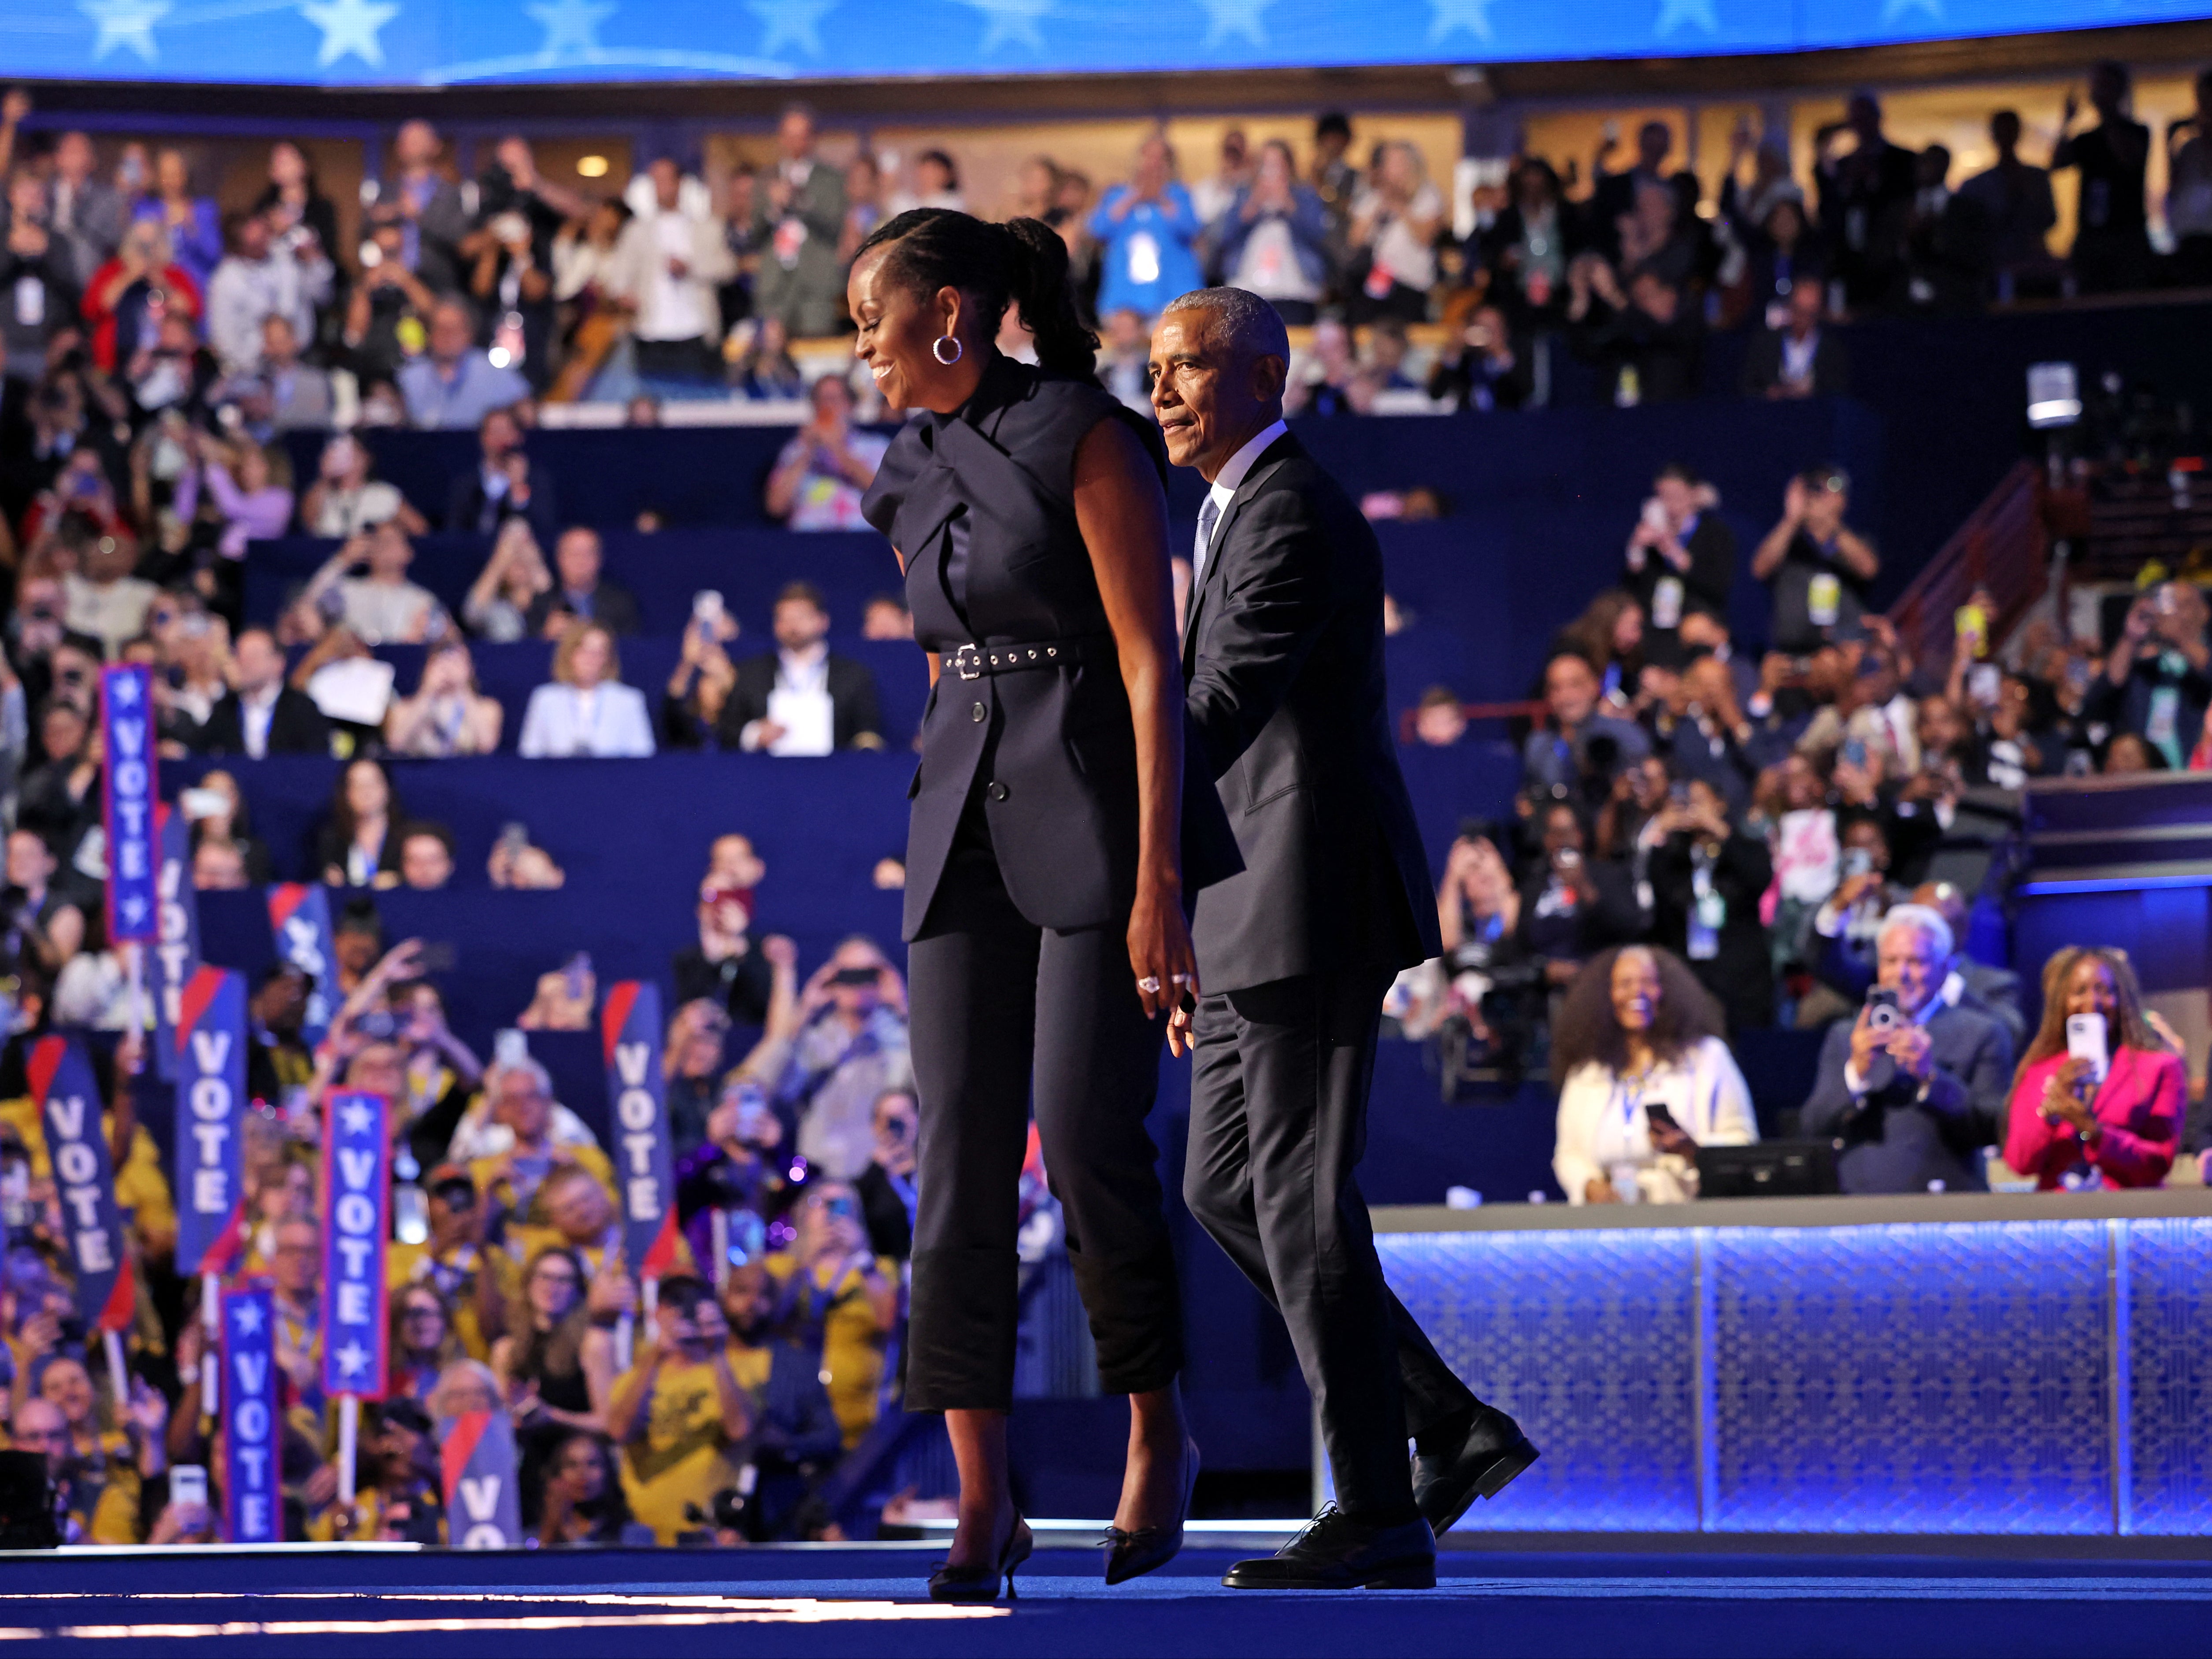
M1975 591L1944 659L1918 661L1867 604L1880 555L1849 480L1812 467L1752 551L1770 613L1739 650L1717 509L1694 469L1661 467L1619 586L1553 639L1515 812L1451 847L1447 953L1394 991L1402 1031L1475 1084L1548 1057L1573 1203L1694 1197L1697 1146L1756 1137L1721 1040L1772 1026L1827 1033L1794 1121L1845 1144L1845 1190L1982 1188L1984 1152L2046 1188L2163 1181L2212 1146L2181 1040L2115 951L2053 962L2031 1040L2033 1000L1971 953L1980 894L1944 856L1962 810L2006 812L2031 779L2212 765L2203 593L2152 573L2108 650L2048 622L1997 650ZM1469 741L1460 699L1433 688L1407 734ZM2141 1062L2053 1093L2064 1013L2104 1015ZM1657 1128L1637 1104L1666 1108Z

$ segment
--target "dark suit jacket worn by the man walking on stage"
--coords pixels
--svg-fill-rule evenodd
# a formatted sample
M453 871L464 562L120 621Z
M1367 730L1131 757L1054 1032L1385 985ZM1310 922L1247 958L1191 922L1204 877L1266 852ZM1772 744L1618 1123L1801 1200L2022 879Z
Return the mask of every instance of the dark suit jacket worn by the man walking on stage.
M1383 549L1292 436L1261 453L1214 529L1183 672L1245 863L1199 894L1199 982L1239 991L1438 956L1383 688Z

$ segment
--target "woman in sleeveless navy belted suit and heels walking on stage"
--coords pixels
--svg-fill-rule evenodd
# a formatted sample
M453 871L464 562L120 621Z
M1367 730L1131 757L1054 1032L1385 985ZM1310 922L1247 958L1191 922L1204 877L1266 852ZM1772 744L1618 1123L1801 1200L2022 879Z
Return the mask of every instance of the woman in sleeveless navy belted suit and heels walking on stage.
M1093 378L1060 237L918 208L878 228L847 296L889 405L869 524L907 573L931 695L907 843L920 1086L907 1405L945 1411L960 1524L940 1599L993 1599L1029 1553L1006 1484L1015 1186L1037 1133L1091 1314L1099 1383L1130 1396L1108 1582L1181 1544L1175 1256L1144 1130L1159 1015L1197 993L1186 887L1237 869L1192 790L1157 427ZM1037 367L993 341L1009 305ZM1201 852L1203 847L1203 852Z

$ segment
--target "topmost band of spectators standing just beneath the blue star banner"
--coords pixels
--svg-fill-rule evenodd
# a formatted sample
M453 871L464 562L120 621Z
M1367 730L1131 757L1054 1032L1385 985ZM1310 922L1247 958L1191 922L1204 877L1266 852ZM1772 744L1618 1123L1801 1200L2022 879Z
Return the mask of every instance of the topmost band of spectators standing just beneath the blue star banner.
M1896 144L1878 97L1858 93L1814 135L1809 166L1741 124L1714 199L1672 164L1666 122L1632 146L1608 124L1586 177L1524 153L1464 204L1416 144L1356 142L1338 113L1303 153L1230 128L1188 173L1161 135L1115 181L1035 155L1002 204L969 201L949 148L834 164L799 106L761 166L710 179L697 157L659 155L604 190L540 173L522 135L460 177L451 146L409 122L372 168L349 250L292 142L270 148L250 204L219 212L184 150L128 142L104 157L18 91L0 106L0 279L15 294L0 334L24 389L82 361L100 403L228 409L257 440L354 420L471 427L540 396L633 396L639 418L659 396L799 398L810 376L792 343L849 330L860 241L905 208L949 206L1060 230L1124 394L1166 301L1223 281L1316 327L1292 387L1314 411L1413 389L1460 407L1544 398L1555 347L1595 363L1613 396L1683 396L1708 330L1759 332L1745 392L1805 396L1847 383L1829 321L2212 281L2212 82L2197 95L2154 135L2130 113L2126 66L2095 64L2044 155L2022 155L2022 117L2004 108L1989 122L1995 164L1962 175L1940 144ZM2152 144L2168 159L2166 252ZM2057 173L2079 177L2081 201L2064 252L2048 246ZM1405 325L1429 321L1447 345L1416 378ZM865 378L852 389L874 403Z

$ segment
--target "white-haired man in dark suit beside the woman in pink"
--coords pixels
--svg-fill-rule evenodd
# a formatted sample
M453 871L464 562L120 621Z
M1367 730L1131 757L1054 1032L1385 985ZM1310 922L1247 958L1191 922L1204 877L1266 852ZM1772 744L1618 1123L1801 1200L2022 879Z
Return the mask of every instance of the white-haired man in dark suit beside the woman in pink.
M1845 1192L1980 1192L1982 1148L2004 1139L2013 1044L1986 1013L1944 1000L1951 927L1924 905L1882 918L1876 984L1898 1018L1871 1006L1836 1022L1820 1044L1820 1075L1801 1130L1838 1137Z

